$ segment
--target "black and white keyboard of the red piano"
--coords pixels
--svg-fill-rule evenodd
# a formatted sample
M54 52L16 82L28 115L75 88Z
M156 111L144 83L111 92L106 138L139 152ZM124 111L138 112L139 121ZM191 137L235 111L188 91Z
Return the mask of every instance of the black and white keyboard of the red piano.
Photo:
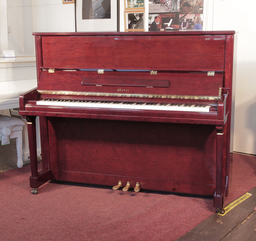
M61 100L61 99L43 99L43 100L37 101L37 105L131 109L131 110L168 110L168 111L171 110L171 111L193 111L193 112L209 112L211 107L207 104L179 104L179 103L102 101L102 100Z

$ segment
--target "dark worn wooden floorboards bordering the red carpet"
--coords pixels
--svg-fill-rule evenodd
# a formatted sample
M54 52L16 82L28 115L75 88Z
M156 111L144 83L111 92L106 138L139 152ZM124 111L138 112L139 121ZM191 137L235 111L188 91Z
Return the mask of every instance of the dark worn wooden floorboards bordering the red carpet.
M10 145L0 145L0 173L17 168L16 141L15 139L10 141ZM30 164L30 161L24 162L24 165L28 164ZM252 196L238 204L224 216L217 213L213 214L177 240L256 241L256 188L248 190L248 192Z

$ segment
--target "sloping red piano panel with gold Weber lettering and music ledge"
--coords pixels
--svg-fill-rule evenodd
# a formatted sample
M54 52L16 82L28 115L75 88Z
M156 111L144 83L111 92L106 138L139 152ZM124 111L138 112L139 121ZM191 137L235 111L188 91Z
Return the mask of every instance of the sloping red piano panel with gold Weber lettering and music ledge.
M100 83L111 83L111 80L122 79L122 83L127 83L127 86L96 86L84 85L92 82L92 79ZM129 80L167 80L163 87L147 88L145 86L133 86ZM113 81L116 84L115 81ZM149 85L152 82L149 81ZM130 86L129 86L130 85ZM184 73L158 73L150 75L149 73L129 73L129 72L106 72L97 74L88 71L55 71L48 73L43 71L37 90L49 91L66 91L66 92L108 92L120 94L174 94L174 95L203 95L203 96L218 96L219 88L223 86L223 75L215 74L215 76L207 76L207 74L184 74ZM72 94L72 93L71 93Z

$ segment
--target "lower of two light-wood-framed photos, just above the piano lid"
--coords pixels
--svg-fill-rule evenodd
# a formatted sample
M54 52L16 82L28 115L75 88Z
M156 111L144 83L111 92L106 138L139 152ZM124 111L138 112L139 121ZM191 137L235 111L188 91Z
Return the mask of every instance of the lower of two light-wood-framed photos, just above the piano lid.
M145 31L144 19L142 11L125 12L125 31Z

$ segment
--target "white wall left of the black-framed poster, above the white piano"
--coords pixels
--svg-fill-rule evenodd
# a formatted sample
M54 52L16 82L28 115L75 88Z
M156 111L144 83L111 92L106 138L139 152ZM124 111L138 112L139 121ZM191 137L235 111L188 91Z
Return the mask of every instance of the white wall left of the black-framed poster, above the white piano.
M75 4L62 0L7 0L9 49L35 55L33 32L75 32Z

